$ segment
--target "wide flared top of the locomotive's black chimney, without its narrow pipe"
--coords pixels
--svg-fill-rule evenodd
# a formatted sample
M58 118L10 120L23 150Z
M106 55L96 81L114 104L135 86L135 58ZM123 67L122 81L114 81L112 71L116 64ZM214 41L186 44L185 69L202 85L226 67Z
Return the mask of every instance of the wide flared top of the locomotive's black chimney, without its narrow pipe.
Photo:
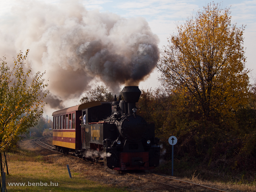
M125 102L137 103L140 99L141 91L138 86L125 86L122 94Z

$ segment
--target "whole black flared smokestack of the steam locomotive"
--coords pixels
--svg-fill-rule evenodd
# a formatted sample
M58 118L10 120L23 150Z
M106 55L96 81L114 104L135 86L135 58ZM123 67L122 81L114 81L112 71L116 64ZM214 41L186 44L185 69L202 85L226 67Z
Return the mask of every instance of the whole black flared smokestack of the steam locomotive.
M136 103L140 99L141 91L138 86L126 86L122 93L124 101L128 103L128 114L132 114L132 109L136 108Z

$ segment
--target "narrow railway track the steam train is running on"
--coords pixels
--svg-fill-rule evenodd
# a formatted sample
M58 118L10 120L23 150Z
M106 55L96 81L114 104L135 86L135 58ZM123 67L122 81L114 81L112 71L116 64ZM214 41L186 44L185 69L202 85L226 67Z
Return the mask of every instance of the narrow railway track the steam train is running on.
M37 138L37 139L34 140L34 142L36 144L38 144L39 146L43 147L43 148L46 148L46 149L51 150L53 152L60 153L59 151L55 150L55 148L53 148L52 146L47 145L46 143L42 142L41 140L43 140L44 138L46 138L46 137ZM76 157L76 156L74 156L73 153L70 153L70 156ZM159 185L166 186L168 189L175 190L175 191L178 190L178 191L195 192L195 191L213 190L213 191L220 191L220 192L228 192L228 191L225 191L225 190L216 189L216 188L204 186L204 185L201 185L201 184L192 183L192 182L189 182L189 181L184 181L184 180L179 180L179 179L174 179L174 178L171 178L171 177L158 175L158 174L153 174L153 173L146 173L146 172L134 173L134 174L131 174L131 173L128 173L128 172L121 172L121 173L130 175L132 177L137 177L141 180L148 180L148 181L157 183ZM181 185L180 183L183 183L183 184Z

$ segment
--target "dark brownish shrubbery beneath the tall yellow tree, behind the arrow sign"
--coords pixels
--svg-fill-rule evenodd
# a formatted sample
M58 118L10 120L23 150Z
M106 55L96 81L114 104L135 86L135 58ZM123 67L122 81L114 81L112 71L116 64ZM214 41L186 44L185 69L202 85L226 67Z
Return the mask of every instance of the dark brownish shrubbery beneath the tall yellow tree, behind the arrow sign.
M205 119L196 103L186 97L167 94L164 89L141 90L138 114L156 124L156 137L171 160L168 138L176 136L175 159L183 168L201 166L225 172L256 172L255 85L248 103L223 115L216 111ZM182 163L183 162L183 163ZM184 163L186 162L186 163ZM181 166L181 165L179 165Z

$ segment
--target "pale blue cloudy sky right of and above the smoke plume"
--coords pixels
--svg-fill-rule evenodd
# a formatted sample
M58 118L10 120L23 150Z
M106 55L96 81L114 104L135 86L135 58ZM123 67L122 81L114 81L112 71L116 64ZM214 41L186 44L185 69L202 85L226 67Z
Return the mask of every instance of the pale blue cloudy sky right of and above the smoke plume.
M144 17L149 23L153 33L159 39L159 48L167 45L167 38L176 32L177 24L183 24L188 17L196 14L196 11L212 1L202 0L140 0L140 1L83 1L84 6L90 9L99 9L101 12L113 12L123 17ZM256 63L254 54L256 52L256 1L224 0L214 1L220 3L223 8L230 7L232 22L237 27L246 26L244 31L244 48L247 57L246 67L252 69L250 76L256 77ZM140 87L155 88L160 85L157 81L157 70L151 74L147 81L141 82ZM251 82L252 78L251 78Z

